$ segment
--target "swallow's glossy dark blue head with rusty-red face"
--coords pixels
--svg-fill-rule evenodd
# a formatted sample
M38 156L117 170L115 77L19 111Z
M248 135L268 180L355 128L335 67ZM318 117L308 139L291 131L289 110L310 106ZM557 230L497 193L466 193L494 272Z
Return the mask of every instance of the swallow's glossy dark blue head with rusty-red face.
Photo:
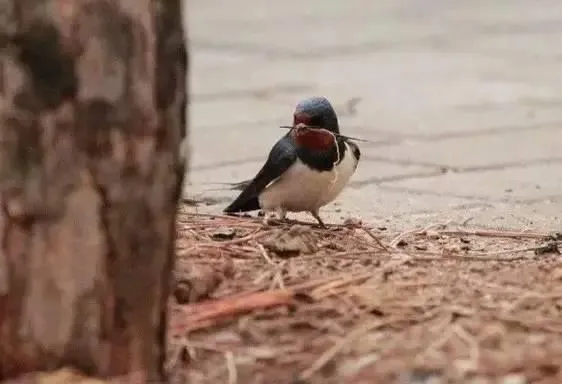
M336 111L328 99L321 96L309 97L297 104L293 115L293 126L298 124L340 133Z

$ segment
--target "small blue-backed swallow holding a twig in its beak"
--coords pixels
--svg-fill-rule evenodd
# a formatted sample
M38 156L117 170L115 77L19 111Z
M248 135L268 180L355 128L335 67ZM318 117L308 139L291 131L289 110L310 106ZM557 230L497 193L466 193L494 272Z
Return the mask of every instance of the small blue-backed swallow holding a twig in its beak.
M321 207L335 200L355 173L361 151L340 135L338 116L323 96L299 101L290 130L273 146L256 176L223 212L262 210L264 220L309 212L321 227Z

